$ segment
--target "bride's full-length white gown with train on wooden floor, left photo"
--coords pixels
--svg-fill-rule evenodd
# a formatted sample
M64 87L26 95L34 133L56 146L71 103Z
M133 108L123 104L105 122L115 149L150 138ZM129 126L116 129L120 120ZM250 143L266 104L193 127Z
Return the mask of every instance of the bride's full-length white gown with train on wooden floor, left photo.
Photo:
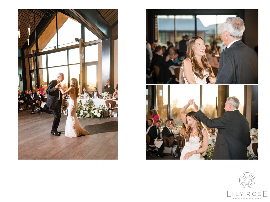
M66 131L67 137L79 137L80 135L89 135L89 133L83 129L79 119L76 115L78 109L78 101L75 94L69 93L70 100L68 106L68 117L66 120Z

